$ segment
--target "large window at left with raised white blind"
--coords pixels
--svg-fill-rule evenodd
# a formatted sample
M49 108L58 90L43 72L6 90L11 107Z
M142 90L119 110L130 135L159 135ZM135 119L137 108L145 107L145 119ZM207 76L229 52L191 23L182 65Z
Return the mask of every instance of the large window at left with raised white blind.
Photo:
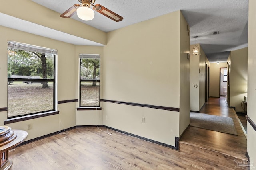
M56 50L8 41L8 118L55 111Z

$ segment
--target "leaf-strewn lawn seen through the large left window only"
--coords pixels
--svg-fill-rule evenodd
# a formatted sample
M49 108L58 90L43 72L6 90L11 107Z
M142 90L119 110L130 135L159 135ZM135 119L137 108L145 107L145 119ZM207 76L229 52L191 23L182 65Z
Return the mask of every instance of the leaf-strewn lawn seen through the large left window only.
M49 88L42 84L14 82L8 85L8 117L53 110L53 83Z

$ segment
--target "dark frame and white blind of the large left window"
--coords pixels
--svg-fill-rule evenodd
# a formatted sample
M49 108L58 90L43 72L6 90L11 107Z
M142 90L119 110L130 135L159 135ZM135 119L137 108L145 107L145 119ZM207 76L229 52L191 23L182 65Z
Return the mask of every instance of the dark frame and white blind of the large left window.
M16 116L8 116L7 113L7 119L8 120L16 120L16 119L30 119L29 117L43 117L42 115L45 114L47 115L53 115L53 114L58 114L59 111L56 110L56 57L58 56L57 54L57 50L54 49L49 49L49 48L45 48L45 47L39 47L36 45L29 45L29 44L25 44L25 43L19 43L19 42L15 42L15 41L8 41L8 48L12 48L12 49L19 49L19 50L23 50L23 51L36 51L39 53L46 53L46 54L53 54L53 78L47 78L47 79L37 79L37 78L7 78L7 83L8 82L24 82L24 81L33 81L33 82L53 82L53 109L50 110L45 110L45 111L39 111L39 112L33 112L33 113L28 113L28 114L23 114L23 115L16 115ZM13 61L12 61L13 62ZM8 92L7 92L8 94ZM8 100L8 96L7 96L7 100ZM15 121L17 122L17 121Z

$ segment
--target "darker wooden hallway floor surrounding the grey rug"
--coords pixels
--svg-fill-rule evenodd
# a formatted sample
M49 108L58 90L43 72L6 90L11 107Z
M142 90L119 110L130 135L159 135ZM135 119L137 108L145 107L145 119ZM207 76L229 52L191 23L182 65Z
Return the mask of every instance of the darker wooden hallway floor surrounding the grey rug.
M238 135L231 135L190 126L180 139L181 152L200 154L200 151L197 152L196 150L201 150L204 154L202 154L202 156L209 156L205 153L210 150L212 154L214 153L214 156L222 154L224 158L230 157L230 160L228 161L232 161L236 158L248 160L246 158L247 139L240 127L236 112L234 109L226 106L227 104L224 100L224 97L209 98L200 113L232 117Z

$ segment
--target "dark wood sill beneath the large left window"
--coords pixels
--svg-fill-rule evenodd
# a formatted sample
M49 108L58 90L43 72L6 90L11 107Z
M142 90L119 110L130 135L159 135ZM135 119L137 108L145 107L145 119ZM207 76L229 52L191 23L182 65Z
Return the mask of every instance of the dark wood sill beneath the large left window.
M37 113L34 115L26 115L26 116L21 116L21 117L15 117L15 118L10 118L4 121L4 124L9 124L9 123L16 123L19 121L25 121L25 120L30 120L30 119L36 119L39 117L45 117L45 116L50 116L50 115L56 115L59 114L60 111L48 111L44 113Z

